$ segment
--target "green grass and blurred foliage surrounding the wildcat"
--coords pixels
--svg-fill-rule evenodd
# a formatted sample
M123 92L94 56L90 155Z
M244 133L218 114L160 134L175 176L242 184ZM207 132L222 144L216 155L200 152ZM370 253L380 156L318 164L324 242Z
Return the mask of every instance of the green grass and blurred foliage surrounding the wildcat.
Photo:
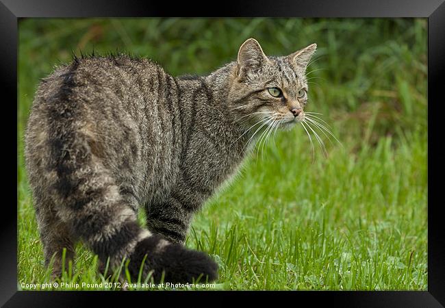
M249 159L188 235L187 246L220 266L216 286L205 289L427 290L426 20L30 19L19 29L19 289L49 281L23 162L39 78L93 47L151 57L173 75L204 74L253 36L272 55L317 42L307 110L324 114L344 147L325 138L329 157L316 148L312 162L296 127ZM116 281L98 274L97 257L81 244L72 267L59 283Z

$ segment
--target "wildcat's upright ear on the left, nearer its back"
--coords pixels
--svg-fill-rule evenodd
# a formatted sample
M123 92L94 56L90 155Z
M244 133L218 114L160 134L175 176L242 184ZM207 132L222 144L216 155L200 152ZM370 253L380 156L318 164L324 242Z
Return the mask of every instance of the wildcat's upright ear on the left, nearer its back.
M264 63L268 61L263 49L255 38L249 38L242 43L238 51L238 77L243 77L249 73L256 73Z

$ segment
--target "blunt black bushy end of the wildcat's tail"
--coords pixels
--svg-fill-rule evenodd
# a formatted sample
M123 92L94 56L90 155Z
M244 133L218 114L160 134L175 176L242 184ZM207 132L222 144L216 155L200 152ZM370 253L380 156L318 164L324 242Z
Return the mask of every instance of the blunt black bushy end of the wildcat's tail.
M152 235L140 241L130 257L129 272L138 277L140 265L144 259L144 274L153 271L155 282L162 279L171 283L192 283L215 281L218 279L218 265L209 255L201 251L194 251L182 244L164 242L159 235Z

